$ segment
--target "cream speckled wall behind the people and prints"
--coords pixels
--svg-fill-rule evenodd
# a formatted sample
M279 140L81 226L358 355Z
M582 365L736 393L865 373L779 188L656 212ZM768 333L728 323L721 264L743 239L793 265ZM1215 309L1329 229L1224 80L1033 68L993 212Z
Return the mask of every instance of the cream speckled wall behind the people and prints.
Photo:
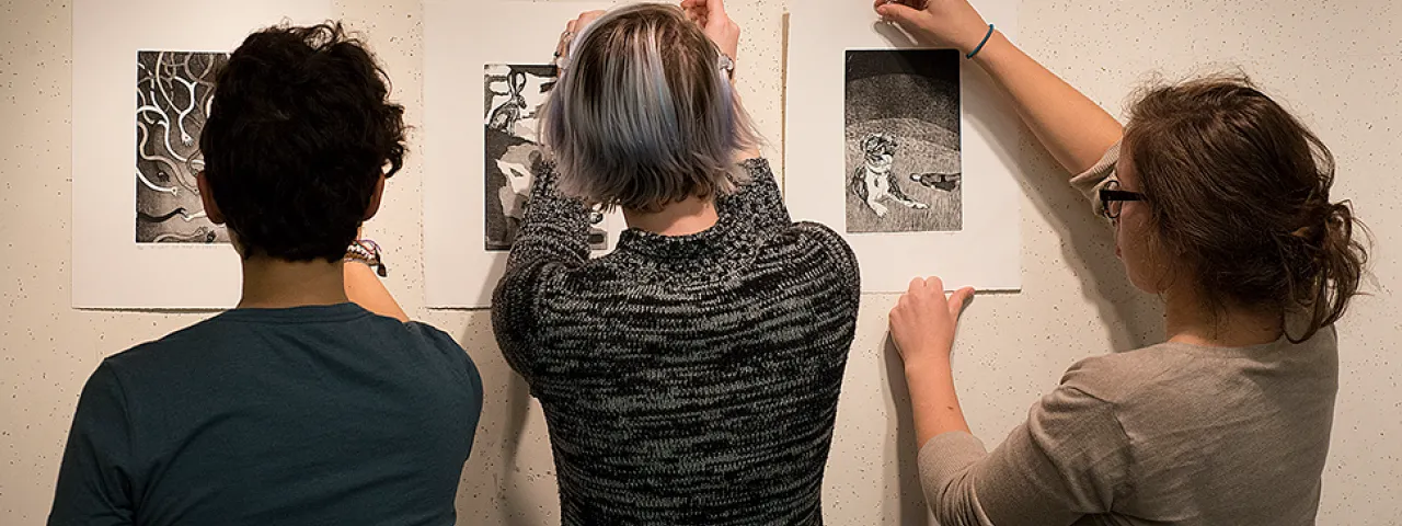
M789 0L802 1L802 0ZM864 1L864 0L852 0ZM338 3L422 122L419 1ZM732 0L747 29L742 90L781 142L780 0ZM107 355L207 314L69 309L70 34L66 1L0 1L0 523L42 523L79 390ZM1026 0L1023 46L1113 112L1150 73L1241 65L1295 108L1339 157L1338 198L1352 198L1378 240L1374 296L1340 327L1342 375L1322 525L1398 525L1402 492L1402 339L1392 293L1402 265L1402 6L1388 0ZM415 143L422 136L414 137ZM1110 238L1064 188L1044 153L1022 159L1023 282L979 297L966 314L958 382L976 433L997 442L1074 360L1152 342L1159 307L1133 292ZM777 150L771 151L775 154ZM788 174L787 184L802 184ZM390 289L416 318L458 337L486 382L477 447L458 497L463 525L557 520L540 408L495 348L484 311L429 311L422 290L422 164L394 178L370 236L394 258ZM868 262L871 264L871 262ZM921 525L914 447L899 365L886 342L893 296L866 296L829 463L831 525ZM1391 316L1389 316L1391 314ZM894 377L892 376L894 375ZM894 380L894 382L893 382Z

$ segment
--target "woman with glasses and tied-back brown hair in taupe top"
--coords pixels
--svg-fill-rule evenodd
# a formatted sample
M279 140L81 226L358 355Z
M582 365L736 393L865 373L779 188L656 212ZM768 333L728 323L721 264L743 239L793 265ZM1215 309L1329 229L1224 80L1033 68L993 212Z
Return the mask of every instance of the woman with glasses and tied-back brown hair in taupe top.
M917 4L913 8L907 4ZM988 452L949 353L970 290L917 279L890 313L925 497L944 526L1312 525L1339 387L1333 324L1366 248L1333 157L1248 79L1154 86L1122 126L967 0L876 1L959 48L1113 222L1168 341L1071 366Z

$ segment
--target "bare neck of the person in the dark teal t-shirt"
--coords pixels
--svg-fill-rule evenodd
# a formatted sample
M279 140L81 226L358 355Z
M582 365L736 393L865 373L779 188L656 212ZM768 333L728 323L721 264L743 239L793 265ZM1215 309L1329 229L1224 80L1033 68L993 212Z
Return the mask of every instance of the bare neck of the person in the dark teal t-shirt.
M289 309L346 303L342 262L244 259L244 295L237 309Z

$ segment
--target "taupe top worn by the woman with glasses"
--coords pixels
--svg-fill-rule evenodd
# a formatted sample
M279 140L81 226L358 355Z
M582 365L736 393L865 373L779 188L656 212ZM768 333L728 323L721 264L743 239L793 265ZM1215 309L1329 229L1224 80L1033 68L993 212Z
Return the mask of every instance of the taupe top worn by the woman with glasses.
M1092 202L1117 153L1073 180ZM1312 525L1338 387L1332 327L1089 358L993 453L965 432L930 439L925 498L942 526Z

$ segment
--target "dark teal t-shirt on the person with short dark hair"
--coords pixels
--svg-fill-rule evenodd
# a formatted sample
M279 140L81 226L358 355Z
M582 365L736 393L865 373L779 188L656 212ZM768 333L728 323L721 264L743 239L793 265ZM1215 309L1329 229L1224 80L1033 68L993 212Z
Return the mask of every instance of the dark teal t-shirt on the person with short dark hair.
M49 525L453 525L481 410L429 325L231 310L93 373Z

